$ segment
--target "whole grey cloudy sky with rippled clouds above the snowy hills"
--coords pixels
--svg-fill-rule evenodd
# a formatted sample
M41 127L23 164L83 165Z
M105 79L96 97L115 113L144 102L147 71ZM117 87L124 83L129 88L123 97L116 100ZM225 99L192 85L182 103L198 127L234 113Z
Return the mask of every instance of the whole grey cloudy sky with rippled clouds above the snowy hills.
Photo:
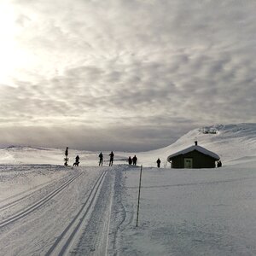
M0 0L0 147L141 151L202 125L256 122L255 10Z

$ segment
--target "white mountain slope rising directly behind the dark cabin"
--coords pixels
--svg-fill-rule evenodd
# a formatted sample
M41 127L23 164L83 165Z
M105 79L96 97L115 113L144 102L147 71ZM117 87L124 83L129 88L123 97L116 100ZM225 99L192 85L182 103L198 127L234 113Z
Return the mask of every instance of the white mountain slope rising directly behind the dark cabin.
M139 155L149 166L155 166L158 157L166 164L168 155L193 146L195 141L201 147L218 154L224 165L256 160L256 124L212 125L195 129L166 148Z

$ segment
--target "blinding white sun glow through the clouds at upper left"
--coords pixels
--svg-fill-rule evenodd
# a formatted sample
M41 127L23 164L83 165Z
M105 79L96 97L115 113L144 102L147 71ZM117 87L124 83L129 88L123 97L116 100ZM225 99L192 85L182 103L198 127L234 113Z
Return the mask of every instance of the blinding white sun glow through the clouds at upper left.
M51 50L54 42L49 49L40 45L47 26L37 12L23 8L22 4L0 2L0 84L12 87L19 86L17 81L37 84L42 78L61 73L61 54L52 54Z

